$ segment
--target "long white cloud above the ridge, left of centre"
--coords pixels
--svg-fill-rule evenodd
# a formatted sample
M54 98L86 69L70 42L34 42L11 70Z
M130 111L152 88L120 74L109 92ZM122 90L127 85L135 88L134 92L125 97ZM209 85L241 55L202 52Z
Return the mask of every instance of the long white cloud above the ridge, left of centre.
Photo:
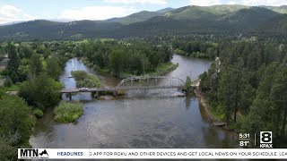
M120 6L89 6L69 9L60 13L60 19L67 20L106 20L135 13L135 8Z

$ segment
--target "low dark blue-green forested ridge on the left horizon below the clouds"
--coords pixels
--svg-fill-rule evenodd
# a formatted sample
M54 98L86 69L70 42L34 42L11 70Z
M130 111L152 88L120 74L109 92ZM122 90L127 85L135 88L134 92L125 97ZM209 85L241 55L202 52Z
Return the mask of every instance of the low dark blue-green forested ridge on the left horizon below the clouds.
M92 38L103 36L110 30L122 27L120 23L106 21L27 21L9 26L0 26L4 39L64 39Z

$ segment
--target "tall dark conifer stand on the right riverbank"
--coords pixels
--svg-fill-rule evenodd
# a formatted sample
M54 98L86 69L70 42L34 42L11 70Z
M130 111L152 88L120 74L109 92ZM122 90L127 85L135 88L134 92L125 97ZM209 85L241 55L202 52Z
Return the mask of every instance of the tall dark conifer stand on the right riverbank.
M211 111L231 129L274 132L274 146L287 143L287 46L222 42L219 57L201 75Z

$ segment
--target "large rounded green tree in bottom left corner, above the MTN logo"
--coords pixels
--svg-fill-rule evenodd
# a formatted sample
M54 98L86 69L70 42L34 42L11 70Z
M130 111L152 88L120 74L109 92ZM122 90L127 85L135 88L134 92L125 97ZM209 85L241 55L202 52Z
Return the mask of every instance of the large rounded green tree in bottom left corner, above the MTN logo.
M17 160L17 148L30 148L34 120L21 97L0 98L0 160Z

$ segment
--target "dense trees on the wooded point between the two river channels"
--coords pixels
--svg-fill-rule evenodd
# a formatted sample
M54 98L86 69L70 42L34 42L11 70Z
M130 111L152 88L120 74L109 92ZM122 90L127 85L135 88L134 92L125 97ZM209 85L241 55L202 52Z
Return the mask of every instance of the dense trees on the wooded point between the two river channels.
M116 77L154 72L162 63L172 59L170 46L124 41L89 41L80 46L81 53L96 70L108 70Z

